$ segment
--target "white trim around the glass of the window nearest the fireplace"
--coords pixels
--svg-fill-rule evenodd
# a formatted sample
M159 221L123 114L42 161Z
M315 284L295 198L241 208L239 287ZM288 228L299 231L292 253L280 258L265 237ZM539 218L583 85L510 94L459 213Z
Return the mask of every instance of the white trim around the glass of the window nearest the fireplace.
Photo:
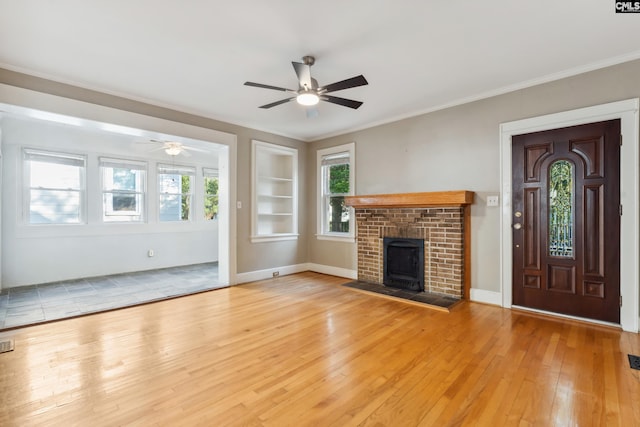
M338 232L328 232L324 231L324 194L323 194L323 174L322 174L322 158L331 154L337 153L349 153L349 196L353 196L355 194L356 189L356 144L355 142L350 142L348 144L337 145L335 147L323 148L318 150L316 157L316 171L317 171L317 234L316 238L318 240L333 240L339 242L355 242L356 235L356 221L355 221L355 211L353 208L349 208L349 232L348 233L338 233Z

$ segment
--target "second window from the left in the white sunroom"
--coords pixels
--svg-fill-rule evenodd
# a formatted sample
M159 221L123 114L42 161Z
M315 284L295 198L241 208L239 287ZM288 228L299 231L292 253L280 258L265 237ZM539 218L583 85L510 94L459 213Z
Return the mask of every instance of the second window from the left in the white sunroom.
M144 221L147 164L133 160L100 158L102 220Z

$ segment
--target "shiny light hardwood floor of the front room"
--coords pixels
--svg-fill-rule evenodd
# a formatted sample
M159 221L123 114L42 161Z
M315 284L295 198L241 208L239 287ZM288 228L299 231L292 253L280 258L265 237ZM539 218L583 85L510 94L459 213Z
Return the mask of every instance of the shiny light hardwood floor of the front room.
M640 425L640 337L302 273L11 331L2 426Z

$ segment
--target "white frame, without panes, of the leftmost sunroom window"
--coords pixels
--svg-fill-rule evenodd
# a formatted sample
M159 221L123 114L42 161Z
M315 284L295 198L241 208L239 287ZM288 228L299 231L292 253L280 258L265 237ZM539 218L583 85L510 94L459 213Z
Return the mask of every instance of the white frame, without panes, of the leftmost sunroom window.
M77 189L58 189L33 187L31 183L31 162L40 159L43 162L51 164L71 164L78 166L79 169L79 187ZM57 159L57 161L54 161ZM78 153L59 152L41 150L36 148L22 149L22 169L23 169L23 222L28 226L73 226L84 225L87 223L87 156ZM44 191L74 191L78 193L78 220L77 222L31 222L31 191L40 189Z

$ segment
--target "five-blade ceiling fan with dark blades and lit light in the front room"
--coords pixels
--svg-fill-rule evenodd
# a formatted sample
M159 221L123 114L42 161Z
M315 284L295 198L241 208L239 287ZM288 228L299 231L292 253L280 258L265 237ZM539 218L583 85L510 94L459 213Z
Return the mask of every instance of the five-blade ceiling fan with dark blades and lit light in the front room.
M281 92L289 92L291 94L294 94L294 96L290 98L285 98L280 101L272 102L270 104L261 105L260 108L271 108L293 100L296 100L298 104L304 106L314 106L320 101L326 101L332 104L342 105L343 107L349 107L353 109L357 109L362 105L362 102L360 101L327 95L330 92L336 92L343 89L350 89L352 87L364 86L369 84L369 82L367 82L362 74L356 77L351 77L350 79L331 83L326 86L318 86L317 80L311 77L311 66L315 63L315 58L313 56L307 55L302 58L302 61L303 62L291 63L293 65L293 69L296 72L296 75L298 76L297 90L270 86L262 83L244 83L245 86L279 90Z

